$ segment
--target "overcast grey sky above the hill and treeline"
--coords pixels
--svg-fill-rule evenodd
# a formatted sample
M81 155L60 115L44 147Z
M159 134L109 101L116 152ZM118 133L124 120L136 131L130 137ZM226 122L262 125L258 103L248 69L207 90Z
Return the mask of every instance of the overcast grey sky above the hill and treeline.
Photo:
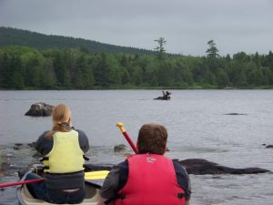
M0 0L0 26L168 53L273 51L273 0Z

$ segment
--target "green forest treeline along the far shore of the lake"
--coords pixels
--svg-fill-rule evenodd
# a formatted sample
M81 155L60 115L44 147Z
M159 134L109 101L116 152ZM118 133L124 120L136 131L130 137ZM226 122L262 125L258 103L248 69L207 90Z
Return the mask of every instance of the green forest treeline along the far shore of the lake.
M167 56L0 47L2 89L272 87L273 54ZM162 54L164 56L162 56Z

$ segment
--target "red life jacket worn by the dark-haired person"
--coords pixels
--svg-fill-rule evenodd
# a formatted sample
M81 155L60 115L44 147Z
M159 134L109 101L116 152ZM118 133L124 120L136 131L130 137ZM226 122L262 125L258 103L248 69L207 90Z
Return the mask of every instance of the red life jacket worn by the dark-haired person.
M128 179L115 205L184 205L185 191L177 183L171 159L138 154L128 159Z

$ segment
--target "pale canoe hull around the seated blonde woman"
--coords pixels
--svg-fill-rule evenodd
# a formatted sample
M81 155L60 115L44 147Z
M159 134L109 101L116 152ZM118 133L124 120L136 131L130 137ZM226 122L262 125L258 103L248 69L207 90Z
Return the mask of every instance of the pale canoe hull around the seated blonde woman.
M30 173L28 171L26 174ZM90 172L88 172L90 174ZM25 176L21 181L25 180ZM95 205L99 197L99 189L103 184L104 179L86 179L86 199L80 203L81 205ZM23 184L17 187L16 190L17 200L19 205L52 205L44 200L35 199L30 192L27 190L26 185Z

